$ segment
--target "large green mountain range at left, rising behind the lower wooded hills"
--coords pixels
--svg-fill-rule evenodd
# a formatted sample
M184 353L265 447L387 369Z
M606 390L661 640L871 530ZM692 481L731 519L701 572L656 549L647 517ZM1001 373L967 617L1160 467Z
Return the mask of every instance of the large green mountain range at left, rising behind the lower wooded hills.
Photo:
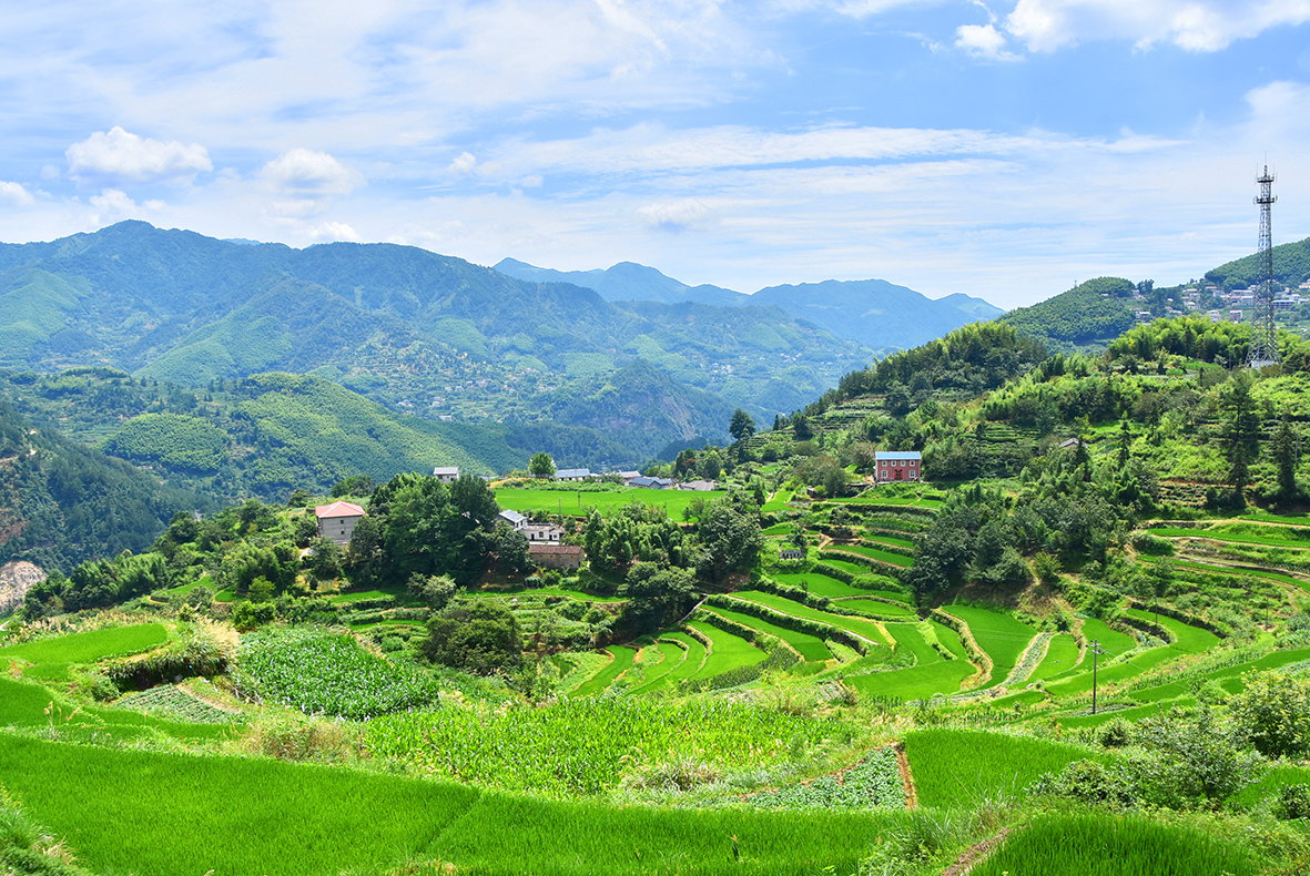
M766 418L871 356L773 308L616 304L592 289L517 280L417 247L295 250L139 221L0 245L0 365L10 368L109 367L179 386L312 373L397 414L537 426L538 433L548 423L605 420L608 402L590 388L596 380L622 388L637 360L665 372L668 392L701 390L722 397L719 409ZM588 410L579 398L603 407ZM601 449L614 440L593 436L590 456L567 462L643 461L647 448L684 437L685 423L638 416L624 431L638 436L664 422L668 432L625 450ZM723 423L696 423L709 429L703 437L723 433ZM576 445L579 437L562 440Z

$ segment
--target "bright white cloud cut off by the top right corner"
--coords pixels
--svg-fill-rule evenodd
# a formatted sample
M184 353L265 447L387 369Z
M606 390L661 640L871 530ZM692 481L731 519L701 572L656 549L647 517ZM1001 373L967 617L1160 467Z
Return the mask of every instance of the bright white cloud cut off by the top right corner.
M1089 39L1218 51L1280 25L1310 21L1310 0L1019 0L1005 29L1032 51Z

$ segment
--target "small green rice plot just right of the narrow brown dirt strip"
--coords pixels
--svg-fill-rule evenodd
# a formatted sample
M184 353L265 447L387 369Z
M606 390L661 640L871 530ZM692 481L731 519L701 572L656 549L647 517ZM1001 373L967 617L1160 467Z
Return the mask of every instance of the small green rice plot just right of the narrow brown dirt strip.
M986 731L920 729L904 741L924 807L969 809L998 795L1013 799L1043 773L1106 757L1077 745Z

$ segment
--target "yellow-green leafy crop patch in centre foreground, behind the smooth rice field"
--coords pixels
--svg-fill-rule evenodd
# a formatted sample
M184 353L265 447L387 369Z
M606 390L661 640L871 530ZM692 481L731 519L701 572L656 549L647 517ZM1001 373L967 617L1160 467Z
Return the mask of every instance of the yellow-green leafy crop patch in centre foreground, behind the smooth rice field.
M722 697L567 697L536 707L447 706L368 724L369 749L439 778L555 796L599 794L683 758L758 769L857 728Z

